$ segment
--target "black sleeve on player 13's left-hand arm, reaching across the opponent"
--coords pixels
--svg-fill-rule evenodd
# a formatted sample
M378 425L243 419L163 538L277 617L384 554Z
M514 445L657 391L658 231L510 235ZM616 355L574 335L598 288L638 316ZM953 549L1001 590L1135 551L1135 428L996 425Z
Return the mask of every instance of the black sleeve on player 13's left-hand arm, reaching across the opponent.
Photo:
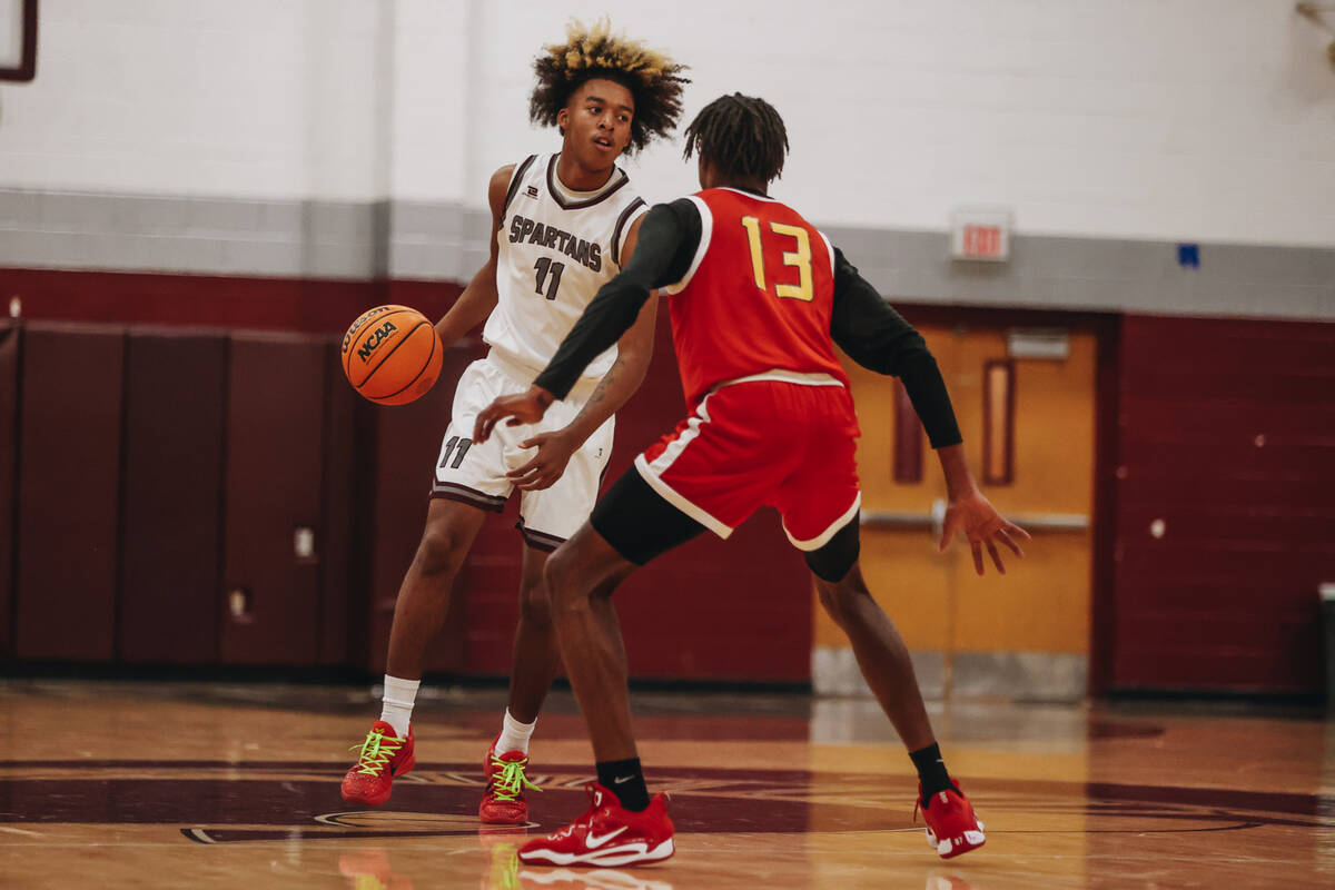
M692 201L654 204L639 224L630 262L598 288L534 384L565 399L589 363L635 323L649 292L686 276L700 238L700 211Z

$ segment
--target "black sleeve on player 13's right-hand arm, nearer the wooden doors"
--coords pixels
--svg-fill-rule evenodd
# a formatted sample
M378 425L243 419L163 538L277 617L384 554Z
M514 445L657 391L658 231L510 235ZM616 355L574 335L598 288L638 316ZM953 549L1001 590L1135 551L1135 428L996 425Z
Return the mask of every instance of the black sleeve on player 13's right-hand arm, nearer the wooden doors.
M941 370L922 335L881 299L837 248L830 336L864 368L904 382L933 448L964 440Z

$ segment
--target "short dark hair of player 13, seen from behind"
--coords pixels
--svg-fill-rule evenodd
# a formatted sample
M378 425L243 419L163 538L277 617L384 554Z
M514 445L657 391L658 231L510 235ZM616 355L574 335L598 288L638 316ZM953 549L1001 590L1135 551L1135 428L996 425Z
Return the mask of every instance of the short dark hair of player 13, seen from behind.
M725 176L770 183L784 172L788 131L774 107L758 96L720 96L696 115L685 136L682 157L700 152Z

